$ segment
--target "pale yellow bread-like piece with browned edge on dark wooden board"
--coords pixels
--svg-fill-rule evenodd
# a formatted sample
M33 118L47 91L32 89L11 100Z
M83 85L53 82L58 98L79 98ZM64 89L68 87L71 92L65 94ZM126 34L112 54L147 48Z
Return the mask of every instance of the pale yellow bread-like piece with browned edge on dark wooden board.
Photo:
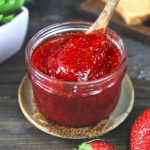
M127 24L137 25L150 19L150 0L120 0L116 11Z

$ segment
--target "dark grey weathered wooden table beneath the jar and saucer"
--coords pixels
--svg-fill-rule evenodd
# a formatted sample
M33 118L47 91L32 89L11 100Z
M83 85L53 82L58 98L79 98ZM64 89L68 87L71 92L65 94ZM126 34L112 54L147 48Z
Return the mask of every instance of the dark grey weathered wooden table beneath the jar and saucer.
M93 21L96 16L87 16L80 10L82 0L35 1L29 6L30 24L24 46L0 64L0 150L71 150L85 140L65 140L47 135L30 124L19 108L18 86L26 73L24 50L33 34L49 24ZM140 112L150 107L150 46L121 36L129 50L128 74L135 88L135 104L125 122L100 139L114 144L118 150L129 150L131 125Z

